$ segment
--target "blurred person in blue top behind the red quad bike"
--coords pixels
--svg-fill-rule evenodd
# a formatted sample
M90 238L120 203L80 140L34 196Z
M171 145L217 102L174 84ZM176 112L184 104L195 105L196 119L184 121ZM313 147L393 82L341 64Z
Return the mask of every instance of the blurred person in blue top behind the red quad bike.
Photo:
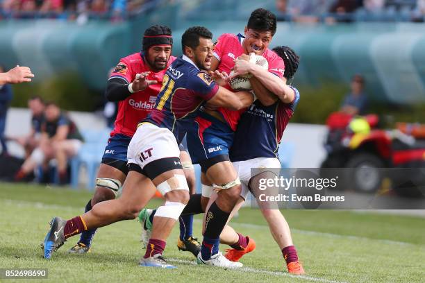
M363 92L364 86L365 79L363 76L353 76L351 80L351 92L345 96L340 112L349 115L365 114L367 108L367 96Z

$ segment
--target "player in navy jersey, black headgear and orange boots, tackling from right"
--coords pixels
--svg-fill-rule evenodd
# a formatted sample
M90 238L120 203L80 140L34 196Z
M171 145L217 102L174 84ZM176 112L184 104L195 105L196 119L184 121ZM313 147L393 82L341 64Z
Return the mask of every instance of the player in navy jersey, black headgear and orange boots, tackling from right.
M241 199L237 208L247 198L249 191L258 197L258 182L260 179L273 179L278 175L278 171L281 168L277 155L278 145L283 131L299 103L298 90L295 87L286 85L287 80L292 79L295 71L297 71L299 56L287 46L278 46L273 51L281 56L285 62L284 78L280 85L281 90L276 91L274 96L269 96L267 99L257 99L242 114L233 139L231 160L242 182ZM249 72L255 76L256 71L258 71L256 70L257 68L247 61L238 60L235 62L237 74ZM247 139L247 137L256 138ZM251 175L251 169L253 168L261 168L261 171L257 175ZM274 172L276 169L278 169L277 172ZM277 207L260 203L259 206L269 224L276 243L282 251L288 271L294 275L303 274L303 266L299 262L297 250L292 243L289 225L285 218ZM226 258L232 261L238 261L250 251L249 245L247 248L242 248L241 244L246 241L247 237L236 233L229 226L226 226L220 239L222 243L228 243L232 247L227 250L225 255Z

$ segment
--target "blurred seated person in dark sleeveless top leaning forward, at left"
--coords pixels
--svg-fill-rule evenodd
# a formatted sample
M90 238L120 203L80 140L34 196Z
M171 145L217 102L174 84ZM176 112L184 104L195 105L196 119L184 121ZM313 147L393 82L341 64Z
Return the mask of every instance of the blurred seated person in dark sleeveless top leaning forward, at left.
M67 182L67 161L73 157L83 144L83 138L75 123L62 112L55 103L47 103L42 123L40 146L22 164L15 180L24 180L36 166L43 165L44 172L49 169L49 161L57 162L60 184Z

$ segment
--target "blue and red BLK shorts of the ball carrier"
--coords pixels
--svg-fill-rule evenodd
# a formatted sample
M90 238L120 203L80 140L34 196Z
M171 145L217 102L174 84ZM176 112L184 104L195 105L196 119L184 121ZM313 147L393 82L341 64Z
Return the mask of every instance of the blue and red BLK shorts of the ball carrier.
M197 117L195 126L188 131L186 137L192 163L198 164L217 155L228 155L234 135L227 123L215 117Z

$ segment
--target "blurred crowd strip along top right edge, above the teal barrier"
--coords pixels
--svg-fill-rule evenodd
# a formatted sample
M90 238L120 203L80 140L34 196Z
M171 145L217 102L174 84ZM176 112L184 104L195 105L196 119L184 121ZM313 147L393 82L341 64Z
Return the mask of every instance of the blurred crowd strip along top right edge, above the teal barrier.
M293 22L424 22L425 0L276 0Z

